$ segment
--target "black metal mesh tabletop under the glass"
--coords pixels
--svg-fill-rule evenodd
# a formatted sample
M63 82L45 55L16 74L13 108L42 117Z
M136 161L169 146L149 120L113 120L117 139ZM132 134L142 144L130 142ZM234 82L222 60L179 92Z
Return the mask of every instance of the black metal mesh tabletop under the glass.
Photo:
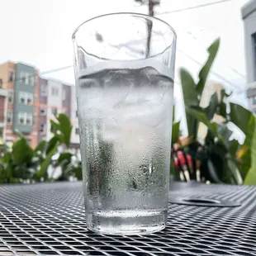
M256 255L256 187L184 183L170 194L242 205L170 204L165 230L107 236L86 228L82 183L1 186L0 255Z

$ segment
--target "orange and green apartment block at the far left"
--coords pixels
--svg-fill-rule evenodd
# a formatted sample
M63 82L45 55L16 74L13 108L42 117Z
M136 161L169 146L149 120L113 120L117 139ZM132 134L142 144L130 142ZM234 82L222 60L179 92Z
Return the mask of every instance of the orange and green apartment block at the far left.
M0 99L2 137L7 142L17 139L17 130L23 133L32 147L36 147L38 73L27 64L7 62L0 65Z

